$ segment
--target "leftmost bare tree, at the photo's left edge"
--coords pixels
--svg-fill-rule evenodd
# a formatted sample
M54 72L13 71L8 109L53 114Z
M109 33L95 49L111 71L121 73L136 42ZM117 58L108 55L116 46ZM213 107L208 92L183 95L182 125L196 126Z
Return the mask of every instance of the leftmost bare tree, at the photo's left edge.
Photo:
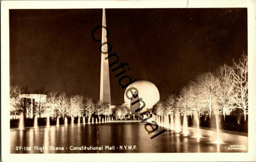
M15 115L15 119L16 119L16 114L20 113L21 111L19 107L20 92L21 92L20 87L10 86L10 106L11 106L10 112L12 113L12 118L13 118L13 115Z

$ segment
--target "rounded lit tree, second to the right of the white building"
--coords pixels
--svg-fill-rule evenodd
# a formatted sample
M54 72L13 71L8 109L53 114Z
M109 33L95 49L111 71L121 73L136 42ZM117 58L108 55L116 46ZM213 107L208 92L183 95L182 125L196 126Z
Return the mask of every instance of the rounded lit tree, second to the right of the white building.
M60 96L58 97L58 106L57 110L58 113L62 116L62 119L64 119L64 115L66 115L68 111L68 96L65 92L62 92Z

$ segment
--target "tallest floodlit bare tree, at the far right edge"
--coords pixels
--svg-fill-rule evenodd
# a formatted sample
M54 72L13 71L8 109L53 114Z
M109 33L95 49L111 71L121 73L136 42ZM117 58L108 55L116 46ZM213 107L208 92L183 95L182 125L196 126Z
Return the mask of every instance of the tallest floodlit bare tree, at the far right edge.
M248 111L248 56L244 54L238 62L233 60L233 80L235 82L236 107L244 111L244 121Z

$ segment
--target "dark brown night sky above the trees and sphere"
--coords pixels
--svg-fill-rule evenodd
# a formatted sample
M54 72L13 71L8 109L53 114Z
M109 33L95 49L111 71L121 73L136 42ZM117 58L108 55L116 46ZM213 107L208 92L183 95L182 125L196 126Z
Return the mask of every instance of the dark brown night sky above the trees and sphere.
M160 99L247 52L246 8L106 9L106 22L125 74L154 83ZM102 9L10 10L10 84L99 99L99 25ZM122 104L120 77L109 75L111 102Z

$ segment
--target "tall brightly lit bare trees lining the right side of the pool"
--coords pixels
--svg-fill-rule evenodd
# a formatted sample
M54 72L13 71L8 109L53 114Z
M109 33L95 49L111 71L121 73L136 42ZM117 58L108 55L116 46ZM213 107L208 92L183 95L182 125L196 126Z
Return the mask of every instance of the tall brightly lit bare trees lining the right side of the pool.
M214 73L207 72L196 77L182 87L178 94L173 93L168 98L158 101L153 111L159 115L173 114L179 111L184 114L207 111L225 116L235 109L244 111L244 121L248 111L248 57L244 54L233 65L224 64Z

